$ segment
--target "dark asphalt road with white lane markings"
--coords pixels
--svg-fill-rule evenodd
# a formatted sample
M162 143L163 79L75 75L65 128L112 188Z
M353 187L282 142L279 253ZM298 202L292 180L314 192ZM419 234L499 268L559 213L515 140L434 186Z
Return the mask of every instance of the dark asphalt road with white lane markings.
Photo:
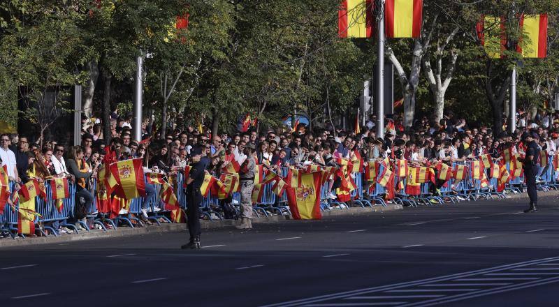
M0 306L559 306L559 198L0 249Z

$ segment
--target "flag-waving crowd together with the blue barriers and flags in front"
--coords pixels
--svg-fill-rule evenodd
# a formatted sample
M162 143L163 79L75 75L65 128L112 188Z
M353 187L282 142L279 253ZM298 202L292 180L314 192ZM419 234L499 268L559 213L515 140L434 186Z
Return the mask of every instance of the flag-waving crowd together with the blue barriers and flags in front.
M542 150L537 158L537 189L556 190L559 113L543 112L530 118L526 113L519 114L515 133L494 135L489 128L470 128L464 119L453 117L440 122L423 117L408 130L402 126L402 117L392 117L386 119L384 138L375 134L374 116L361 131L328 126L310 130L297 124L292 130L261 128L259 133L251 125L242 125L243 132L235 135L211 135L194 125L161 135L145 121L142 141L134 142L129 116L120 117L115 111L111 114L109 144L103 140L103 123L99 119L83 119L82 144L75 147L3 134L0 237L58 236L94 229L117 231L120 227L184 223L184 191L194 148L201 149L205 172L213 178L200 206L200 218L210 221L240 217L238 182L236 188L220 189L226 186L224 175L238 181L235 173L243 172L245 162L252 158L259 165L255 180L258 188L252 195L255 217L298 215L286 188L282 188L301 188L290 181L296 170L297 174L321 172L321 188L317 191L321 211L390 203L409 207L455 204L523 193L525 178L517 160L527 150L527 144L522 142L526 133ZM249 145L254 145L256 151L247 151ZM110 165L131 159L140 168L110 169ZM141 186L154 193L128 200L116 197L111 180L121 172L139 174L140 169L145 176ZM162 181L148 178L154 173ZM268 180L270 173L277 176ZM58 186L53 190L55 186L48 184L61 178L67 184L67 196L63 198L59 197ZM259 185L263 181L266 183ZM36 185L27 186L29 182ZM140 181L138 187L139 184ZM42 192L37 191L32 200L23 202L24 188L33 187ZM31 225L24 227L23 222L35 229L30 230Z

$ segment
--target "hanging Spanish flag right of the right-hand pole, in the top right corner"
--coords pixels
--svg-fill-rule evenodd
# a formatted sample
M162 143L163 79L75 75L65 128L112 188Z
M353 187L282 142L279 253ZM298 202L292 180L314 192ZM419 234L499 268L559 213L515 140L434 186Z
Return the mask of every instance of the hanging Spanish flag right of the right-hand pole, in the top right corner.
M520 28L523 38L517 51L522 53L522 57L547 57L547 15L521 15Z

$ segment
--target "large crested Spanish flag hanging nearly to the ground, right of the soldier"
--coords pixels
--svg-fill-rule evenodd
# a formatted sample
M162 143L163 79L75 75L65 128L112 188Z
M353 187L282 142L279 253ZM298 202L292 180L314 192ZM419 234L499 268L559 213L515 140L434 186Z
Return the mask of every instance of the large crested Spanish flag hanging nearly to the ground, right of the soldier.
M320 188L321 174L319 172L302 174L301 185L298 188L288 186L287 202L294 219L320 219Z

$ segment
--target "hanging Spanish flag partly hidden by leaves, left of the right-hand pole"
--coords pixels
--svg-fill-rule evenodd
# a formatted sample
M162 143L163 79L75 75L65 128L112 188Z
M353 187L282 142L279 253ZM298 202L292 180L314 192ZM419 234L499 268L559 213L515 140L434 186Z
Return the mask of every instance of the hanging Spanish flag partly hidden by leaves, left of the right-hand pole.
M490 59L504 57L507 36L504 31L502 17L481 16L481 21L476 24L477 37Z

